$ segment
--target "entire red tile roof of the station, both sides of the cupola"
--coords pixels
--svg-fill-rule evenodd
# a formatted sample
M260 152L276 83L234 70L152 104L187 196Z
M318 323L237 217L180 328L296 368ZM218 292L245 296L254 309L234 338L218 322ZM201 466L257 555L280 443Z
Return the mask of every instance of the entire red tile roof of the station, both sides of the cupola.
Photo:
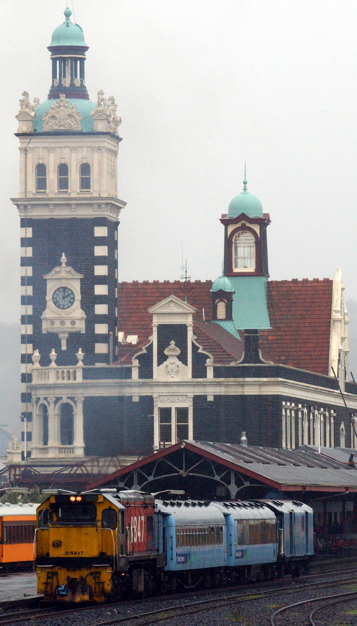
M261 332L265 359L290 367L328 375L331 326L332 280L272 280L267 283L267 304L272 330ZM118 330L138 335L138 346L119 346L118 364L130 363L139 346L152 334L148 309L169 295L195 307L194 334L197 343L214 357L217 364L241 358L244 341L210 323L212 319L211 280L189 282L122 282L118 285ZM203 316L205 314L205 322ZM243 332L240 332L244 340Z

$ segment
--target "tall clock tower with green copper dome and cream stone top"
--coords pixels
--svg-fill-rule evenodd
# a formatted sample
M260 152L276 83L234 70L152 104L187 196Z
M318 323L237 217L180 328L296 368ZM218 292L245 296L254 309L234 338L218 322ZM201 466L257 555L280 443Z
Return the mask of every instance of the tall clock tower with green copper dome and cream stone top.
M21 416L30 456L33 399L31 355L49 366L110 365L117 344L116 155L120 118L113 96L89 99L88 46L82 29L65 21L48 50L51 85L39 103L23 92L16 115L20 190L12 198L21 221ZM54 352L53 352L54 351ZM82 357L83 358L83 357ZM52 359L53 360L53 359ZM26 434L27 431L27 434Z

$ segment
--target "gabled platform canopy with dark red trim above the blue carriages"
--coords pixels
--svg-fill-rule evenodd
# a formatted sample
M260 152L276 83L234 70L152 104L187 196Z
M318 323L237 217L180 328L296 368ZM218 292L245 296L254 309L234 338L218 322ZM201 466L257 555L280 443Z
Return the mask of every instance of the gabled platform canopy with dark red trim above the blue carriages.
M303 446L287 450L180 441L101 476L88 489L185 490L190 498L277 497L296 492L357 492L357 470ZM296 496L295 496L296 497Z

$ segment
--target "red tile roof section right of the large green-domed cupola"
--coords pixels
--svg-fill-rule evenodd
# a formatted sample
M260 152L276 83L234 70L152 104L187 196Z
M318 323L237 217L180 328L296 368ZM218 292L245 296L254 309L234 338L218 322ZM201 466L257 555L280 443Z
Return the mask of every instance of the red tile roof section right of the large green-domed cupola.
M332 280L270 280L267 305L272 330L261 332L272 361L328 376Z

